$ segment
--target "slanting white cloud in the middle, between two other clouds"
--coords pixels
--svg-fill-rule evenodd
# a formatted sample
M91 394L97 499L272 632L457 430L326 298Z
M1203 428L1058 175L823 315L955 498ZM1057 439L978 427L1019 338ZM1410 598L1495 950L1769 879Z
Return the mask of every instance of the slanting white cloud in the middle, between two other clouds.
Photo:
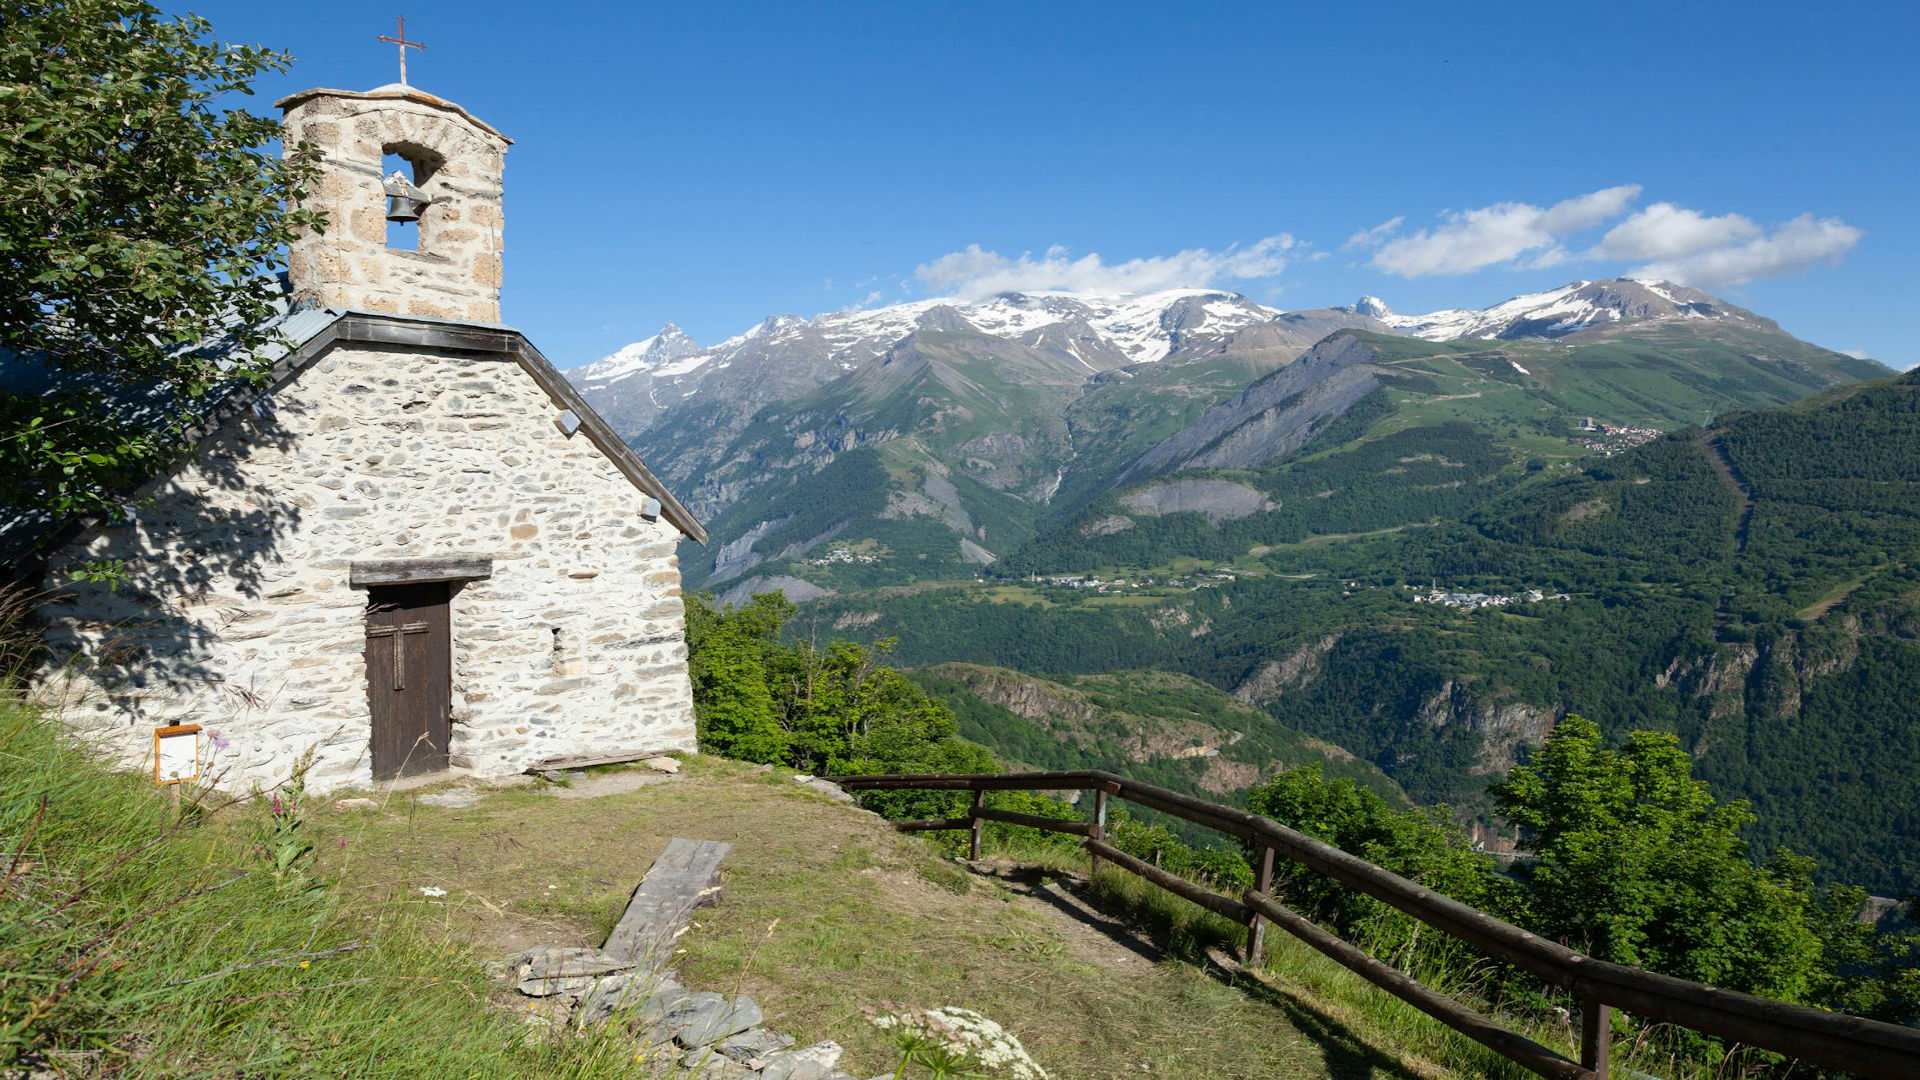
M1528 254L1526 267L1553 265L1567 259L1561 236L1619 217L1638 196L1640 184L1619 184L1548 208L1501 202L1453 211L1446 215L1446 225L1386 242L1371 263L1400 277L1471 273Z

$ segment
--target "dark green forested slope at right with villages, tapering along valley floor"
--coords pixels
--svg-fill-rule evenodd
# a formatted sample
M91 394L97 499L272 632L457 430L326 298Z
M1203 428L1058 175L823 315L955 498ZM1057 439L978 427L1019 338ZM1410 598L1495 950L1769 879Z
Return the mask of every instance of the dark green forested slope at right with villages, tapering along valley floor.
M1192 675L1467 819L1569 711L1670 730L1753 801L1763 851L1920 888L1920 373L1542 469L1452 521L1104 575L810 615L908 663Z

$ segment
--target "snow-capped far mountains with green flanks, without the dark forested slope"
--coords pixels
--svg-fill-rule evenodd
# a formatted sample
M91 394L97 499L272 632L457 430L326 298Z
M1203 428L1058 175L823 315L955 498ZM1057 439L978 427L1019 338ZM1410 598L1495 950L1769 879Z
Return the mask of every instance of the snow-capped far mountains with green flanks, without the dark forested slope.
M708 521L712 544L684 555L689 584L808 600L1008 559L1044 569L1021 550L1192 500L1215 525L1258 519L1236 532L1281 519L1396 525L1379 505L1346 515L1377 498L1338 484L1309 492L1332 492L1319 507L1265 498L1246 477L1131 490L1267 469L1325 444L1334 421L1357 425L1359 444L1405 450L1396 457L1421 454L1413 429L1473 444L1461 446L1471 484L1428 479L1407 486L1453 494L1394 500L1430 515L1519 479L1526 461L1576 455L1569 436L1586 421L1667 430L1884 373L1703 292L1622 279L1430 315L1375 298L1277 311L1202 288L918 300L776 315L714 346L666 327L572 377ZM1137 552L1140 536L1106 546L1162 561Z

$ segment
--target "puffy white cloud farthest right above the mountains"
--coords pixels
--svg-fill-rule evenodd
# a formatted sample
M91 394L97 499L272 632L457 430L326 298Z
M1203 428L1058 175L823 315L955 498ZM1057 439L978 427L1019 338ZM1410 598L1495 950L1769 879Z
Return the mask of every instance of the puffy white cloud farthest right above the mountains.
M1651 209L1651 208L1649 208ZM1724 288L1745 284L1763 277L1786 277L1805 273L1818 263L1836 263L1860 242L1860 233L1837 217L1814 217L1803 213L1772 233L1763 233L1757 225L1730 213L1724 217L1701 217L1690 209L1674 208L1672 231L1665 236L1651 236L1645 254L1653 261L1628 271L1628 277L1665 279L1699 288ZM1636 215L1640 217L1640 215ZM1711 236L1697 223L1726 223L1738 219L1745 231L1732 231L1720 225L1722 236ZM1620 229L1634 219L1622 221ZM1619 233L1619 229L1615 229ZM1607 234L1613 238L1613 233ZM1607 240L1601 240L1601 248Z

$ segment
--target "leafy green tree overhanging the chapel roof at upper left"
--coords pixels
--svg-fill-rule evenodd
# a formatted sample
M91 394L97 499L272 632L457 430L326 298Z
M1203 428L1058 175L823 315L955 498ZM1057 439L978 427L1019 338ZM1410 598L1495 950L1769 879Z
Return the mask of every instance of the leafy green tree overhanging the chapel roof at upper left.
M0 394L13 505L100 509L180 454L192 404L269 338L273 271L313 183L250 94L286 54L209 38L136 0L0 0L0 357L88 373L92 392ZM225 336L219 352L192 350ZM225 367L223 367L225 365ZM157 390L173 419L115 415L100 388Z

